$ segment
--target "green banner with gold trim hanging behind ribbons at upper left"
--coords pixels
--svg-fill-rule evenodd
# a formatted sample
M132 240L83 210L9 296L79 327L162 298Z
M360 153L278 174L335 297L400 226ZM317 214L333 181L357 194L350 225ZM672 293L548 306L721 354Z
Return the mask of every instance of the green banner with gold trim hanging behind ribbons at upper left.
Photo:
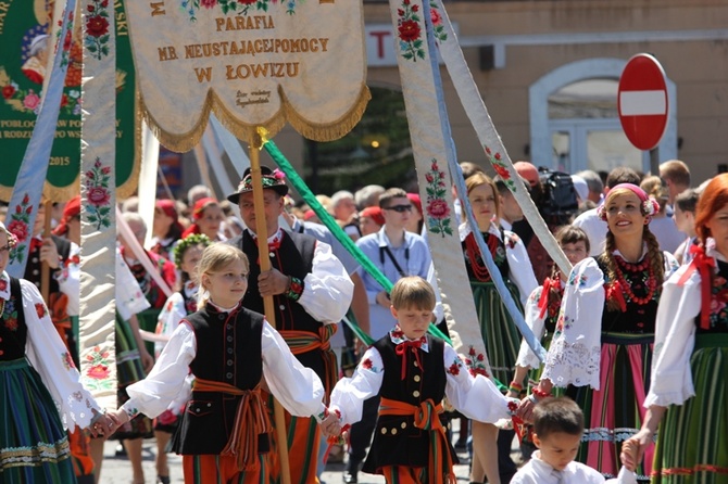
M136 190L138 180L141 125L137 118L135 72L131 59L126 13L122 0L113 2L116 17L116 75L109 79L116 86L116 188L125 198ZM54 0L0 0L0 199L10 200L35 126L42 85L54 52L52 33ZM91 17L89 17L91 18ZM49 161L43 193L52 201L65 202L78 193L80 171L80 81L81 16L74 16L68 71L65 79L55 140ZM109 23L93 21L87 29L103 36ZM48 68L48 71L47 71Z

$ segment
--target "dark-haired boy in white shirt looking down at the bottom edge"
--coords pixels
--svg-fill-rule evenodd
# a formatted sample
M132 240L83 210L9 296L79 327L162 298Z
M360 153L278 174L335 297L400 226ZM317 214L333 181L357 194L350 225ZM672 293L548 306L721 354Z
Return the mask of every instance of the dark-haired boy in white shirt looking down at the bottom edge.
M583 434L583 413L567 397L547 398L534 409L534 444L539 448L511 484L603 483L604 476L574 458Z

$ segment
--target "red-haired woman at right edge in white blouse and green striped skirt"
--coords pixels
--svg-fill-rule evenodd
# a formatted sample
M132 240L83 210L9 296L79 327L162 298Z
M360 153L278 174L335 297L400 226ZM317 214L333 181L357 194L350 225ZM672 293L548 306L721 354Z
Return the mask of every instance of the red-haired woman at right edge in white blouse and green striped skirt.
M693 259L660 300L642 429L623 446L623 462L633 468L657 435L653 483L728 483L727 174L701 194L695 228Z

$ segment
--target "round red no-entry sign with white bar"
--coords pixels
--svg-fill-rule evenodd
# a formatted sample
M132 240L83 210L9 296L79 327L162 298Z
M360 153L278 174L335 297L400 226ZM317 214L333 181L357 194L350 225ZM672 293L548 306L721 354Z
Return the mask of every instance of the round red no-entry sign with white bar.
M619 122L627 139L639 150L655 148L667 127L665 71L650 54L632 56L619 78Z

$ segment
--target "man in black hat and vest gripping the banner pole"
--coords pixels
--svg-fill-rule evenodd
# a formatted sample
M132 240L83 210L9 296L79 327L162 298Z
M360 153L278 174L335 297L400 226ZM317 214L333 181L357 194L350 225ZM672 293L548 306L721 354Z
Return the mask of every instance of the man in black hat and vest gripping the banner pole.
M271 270L261 272L250 168L244 171L238 190L227 196L240 207L240 216L248 227L242 234L228 241L240 247L250 262L248 292L242 304L264 313L263 297L273 296L276 328L299 361L318 374L328 395L338 375L336 356L328 340L336 331L336 323L349 309L353 283L328 244L278 227L278 215L288 193L285 176L266 166L261 167L261 173ZM316 421L287 413L286 423L291 483L318 482L316 462L321 431ZM277 476L280 469L277 454L271 456L271 475Z

